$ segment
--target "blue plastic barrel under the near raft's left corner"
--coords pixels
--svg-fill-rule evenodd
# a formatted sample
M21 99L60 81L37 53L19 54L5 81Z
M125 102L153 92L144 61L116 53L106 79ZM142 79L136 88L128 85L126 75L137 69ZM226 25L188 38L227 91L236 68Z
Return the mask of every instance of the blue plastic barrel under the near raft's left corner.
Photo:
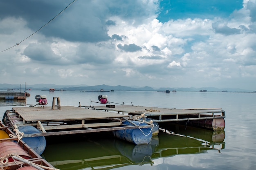
M20 126L18 127L20 132L24 132L24 134L31 134L31 133L41 133L37 128L34 126ZM32 148L36 153L41 155L46 147L46 140L44 136L39 137L24 137L22 138L30 148Z

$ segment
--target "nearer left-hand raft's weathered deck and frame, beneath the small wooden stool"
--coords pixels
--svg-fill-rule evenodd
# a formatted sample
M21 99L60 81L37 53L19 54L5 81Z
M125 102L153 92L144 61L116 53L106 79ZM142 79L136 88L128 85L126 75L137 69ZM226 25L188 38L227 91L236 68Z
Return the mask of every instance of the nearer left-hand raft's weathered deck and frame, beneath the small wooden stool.
M141 125L133 123L131 125L125 124L124 121L130 122L127 119L128 117L129 115L74 106L61 106L61 109L52 109L46 106L16 107L4 113L3 122L11 130L14 130L14 125L16 125L19 129L22 126L34 126L41 131L29 134L25 133L23 137L69 135L127 129L140 129L143 131L147 130L147 128L153 128L153 124L150 123Z

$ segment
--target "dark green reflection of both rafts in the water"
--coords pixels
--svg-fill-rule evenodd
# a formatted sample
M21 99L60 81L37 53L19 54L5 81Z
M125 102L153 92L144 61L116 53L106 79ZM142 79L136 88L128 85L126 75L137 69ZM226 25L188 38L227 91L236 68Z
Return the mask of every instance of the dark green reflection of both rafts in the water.
M170 127L169 127L170 128ZM154 159L200 154L225 148L225 132L173 126L161 129L148 145L134 145L111 134L96 133L47 138L43 157L61 170L112 169L154 164Z

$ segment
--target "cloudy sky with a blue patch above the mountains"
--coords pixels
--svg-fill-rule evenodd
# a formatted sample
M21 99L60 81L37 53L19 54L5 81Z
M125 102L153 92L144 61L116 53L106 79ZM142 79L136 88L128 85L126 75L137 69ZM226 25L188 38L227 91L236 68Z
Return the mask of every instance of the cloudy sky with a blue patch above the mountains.
M73 1L0 0L0 83L256 90L256 0Z

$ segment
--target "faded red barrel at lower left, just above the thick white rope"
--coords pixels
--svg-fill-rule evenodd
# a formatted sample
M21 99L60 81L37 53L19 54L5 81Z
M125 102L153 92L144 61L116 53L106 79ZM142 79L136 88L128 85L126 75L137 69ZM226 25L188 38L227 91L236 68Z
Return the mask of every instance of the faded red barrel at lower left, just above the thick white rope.
M0 142L0 157L8 154L16 154L24 159L31 159L32 157L19 144L13 141ZM13 162L12 157L8 157L9 162Z

